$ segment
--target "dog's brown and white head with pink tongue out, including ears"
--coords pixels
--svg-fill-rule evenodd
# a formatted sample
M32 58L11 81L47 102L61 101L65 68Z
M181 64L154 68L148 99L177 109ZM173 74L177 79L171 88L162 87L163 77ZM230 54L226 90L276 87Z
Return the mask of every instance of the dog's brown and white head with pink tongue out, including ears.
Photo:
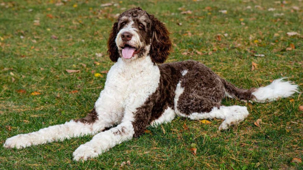
M154 15L141 8L124 11L109 35L108 54L112 61L119 57L132 61L149 55L155 63L164 63L171 50L166 27Z

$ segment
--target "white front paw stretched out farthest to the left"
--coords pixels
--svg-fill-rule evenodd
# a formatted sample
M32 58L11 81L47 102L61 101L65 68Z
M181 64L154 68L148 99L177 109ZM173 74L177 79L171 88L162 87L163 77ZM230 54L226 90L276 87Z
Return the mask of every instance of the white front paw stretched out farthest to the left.
M3 147L5 148L14 148L17 149L25 148L31 146L32 142L28 141L27 137L24 134L16 135L11 138L6 139Z

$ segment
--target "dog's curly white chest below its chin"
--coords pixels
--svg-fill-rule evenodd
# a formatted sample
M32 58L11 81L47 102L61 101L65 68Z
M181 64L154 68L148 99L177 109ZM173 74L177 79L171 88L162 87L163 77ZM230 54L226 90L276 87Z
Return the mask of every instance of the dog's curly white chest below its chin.
M122 61L123 62L123 61ZM120 105L140 105L155 92L160 80L160 71L149 60L133 64L125 64L119 60L108 73L106 86L115 89L115 98L120 99ZM138 102L139 101L139 102Z

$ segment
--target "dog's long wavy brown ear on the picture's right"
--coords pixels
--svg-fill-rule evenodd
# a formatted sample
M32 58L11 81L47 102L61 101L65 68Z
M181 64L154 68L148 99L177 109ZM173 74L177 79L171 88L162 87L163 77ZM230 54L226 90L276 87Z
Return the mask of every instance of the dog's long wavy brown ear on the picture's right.
M154 15L149 15L151 20L151 47L149 55L155 63L164 63L171 51L169 32L162 22Z

